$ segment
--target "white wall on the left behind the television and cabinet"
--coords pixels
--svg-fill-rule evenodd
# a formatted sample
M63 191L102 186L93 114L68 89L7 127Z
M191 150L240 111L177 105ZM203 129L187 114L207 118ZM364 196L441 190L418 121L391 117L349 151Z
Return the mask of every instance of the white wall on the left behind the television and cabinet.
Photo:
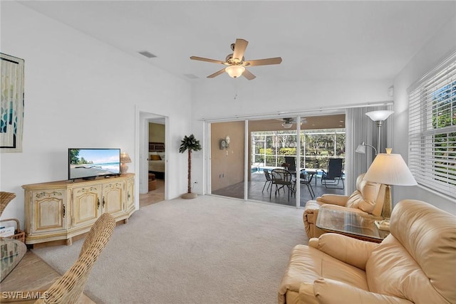
M135 106L170 117L170 198L186 192L189 83L12 1L1 2L1 52L25 59L24 152L0 154L0 189L17 195L2 217L24 225L21 185L67 179L68 147L120 147L134 172Z

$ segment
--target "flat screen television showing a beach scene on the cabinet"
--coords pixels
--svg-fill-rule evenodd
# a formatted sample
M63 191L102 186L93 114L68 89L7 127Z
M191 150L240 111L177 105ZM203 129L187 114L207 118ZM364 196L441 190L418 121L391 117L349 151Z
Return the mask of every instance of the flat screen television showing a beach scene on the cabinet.
M68 149L68 179L114 175L120 175L120 149Z

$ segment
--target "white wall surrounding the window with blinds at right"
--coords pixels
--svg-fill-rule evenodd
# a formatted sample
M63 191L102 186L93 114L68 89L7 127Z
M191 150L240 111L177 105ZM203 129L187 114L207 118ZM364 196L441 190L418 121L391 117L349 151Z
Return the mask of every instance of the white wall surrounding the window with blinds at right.
M456 16L421 48L394 80L393 152L408 161L408 94L407 88L456 51ZM455 199L438 196L421 187L393 187L393 202L420 199L456 214Z

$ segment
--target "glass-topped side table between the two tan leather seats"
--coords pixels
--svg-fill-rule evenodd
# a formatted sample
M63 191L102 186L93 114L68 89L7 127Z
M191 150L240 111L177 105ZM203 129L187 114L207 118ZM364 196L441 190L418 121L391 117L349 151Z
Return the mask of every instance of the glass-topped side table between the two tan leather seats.
M380 243L390 231L380 230L375 221L382 220L371 214L346 211L345 209L330 209L322 206L318 209L316 226L325 231L351 236L364 241Z

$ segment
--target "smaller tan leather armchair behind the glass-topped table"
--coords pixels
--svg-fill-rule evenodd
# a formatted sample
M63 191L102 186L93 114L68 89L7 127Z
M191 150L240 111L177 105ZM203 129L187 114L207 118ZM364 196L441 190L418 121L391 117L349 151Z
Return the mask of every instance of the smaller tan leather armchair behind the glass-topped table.
M356 179L356 191L351 196L338 194L323 194L316 200L306 202L304 207L303 221L306 234L310 238L317 238L323 234L321 229L315 226L318 209L322 205L330 208L351 208L351 211L366 212L374 216L380 216L385 201L385 185L368 182L363 179L364 173Z

